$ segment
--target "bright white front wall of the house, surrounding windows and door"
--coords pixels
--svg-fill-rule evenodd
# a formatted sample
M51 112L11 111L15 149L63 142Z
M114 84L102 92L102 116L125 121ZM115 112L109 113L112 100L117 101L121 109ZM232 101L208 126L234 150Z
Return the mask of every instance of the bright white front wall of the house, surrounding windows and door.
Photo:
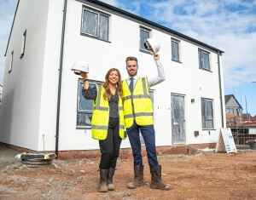
M106 11L100 11L108 14ZM138 58L139 75L151 77L157 73L153 56L139 51L140 24L115 14L109 14L111 15L110 43L80 35L82 3L67 2L61 84L60 151L98 148L98 141L91 139L90 129L86 131L76 129L79 76L75 76L71 71L75 60L87 60L90 64L89 78L97 81L103 81L106 72L111 67L118 68L122 78L126 78L125 58L130 55ZM171 94L181 94L185 98L186 144L216 142L219 128L222 127L218 54L211 52L212 72L202 71L198 66L198 47L195 44L181 41L182 63L177 63L171 58L171 35L153 29L151 37L160 40L160 60L166 71L166 81L152 87L154 89L156 145L172 146ZM211 130L210 133L208 130L201 129L201 97L214 100L214 127L216 129ZM194 104L190 102L191 99L195 99ZM194 136L195 130L199 131L197 137ZM123 140L121 147L130 147L128 138Z

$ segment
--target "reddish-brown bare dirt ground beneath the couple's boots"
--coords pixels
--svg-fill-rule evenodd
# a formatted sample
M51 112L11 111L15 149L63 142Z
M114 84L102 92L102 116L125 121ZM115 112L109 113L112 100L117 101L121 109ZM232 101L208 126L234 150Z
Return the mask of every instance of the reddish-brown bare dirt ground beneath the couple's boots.
M151 189L148 160L144 162L145 186L128 189L133 161L119 159L113 177L115 191L100 193L99 159L53 160L31 167L15 162L0 166L0 199L256 199L256 151L202 152L193 156L160 155L162 179L170 191Z

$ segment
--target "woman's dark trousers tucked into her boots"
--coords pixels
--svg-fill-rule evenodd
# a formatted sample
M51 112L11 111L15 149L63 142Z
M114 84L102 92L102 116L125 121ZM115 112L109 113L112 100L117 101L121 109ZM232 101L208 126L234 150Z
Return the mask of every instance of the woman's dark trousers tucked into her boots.
M119 118L109 118L108 136L106 140L99 140L102 152L100 169L116 167L117 158L122 139L119 137Z

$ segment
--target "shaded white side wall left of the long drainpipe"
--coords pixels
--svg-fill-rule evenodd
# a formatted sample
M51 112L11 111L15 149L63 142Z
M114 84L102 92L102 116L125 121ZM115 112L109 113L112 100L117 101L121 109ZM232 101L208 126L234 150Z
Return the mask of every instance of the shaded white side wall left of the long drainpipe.
M3 80L0 140L4 143L41 151L55 147L63 5L63 1L59 0L22 0L19 3ZM20 59L24 31L26 48ZM13 67L9 73L13 50ZM46 135L44 138L43 134Z

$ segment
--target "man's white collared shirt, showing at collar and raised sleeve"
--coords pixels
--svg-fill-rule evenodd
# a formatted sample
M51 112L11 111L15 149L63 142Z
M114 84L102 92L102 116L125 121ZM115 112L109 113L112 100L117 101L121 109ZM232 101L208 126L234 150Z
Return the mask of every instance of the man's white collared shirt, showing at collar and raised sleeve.
M148 77L148 87L150 88L151 86L154 86L156 84L159 84L161 82L163 82L164 80L166 80L166 74L164 71L164 66L162 66L162 64L160 63L160 60L155 60L155 64L157 66L157 72L158 72L158 76L157 77ZM130 80L130 76L126 79L128 85L130 85L131 80ZM137 83L137 80L140 78L138 75L134 76L134 85L133 88L135 86L135 84Z

